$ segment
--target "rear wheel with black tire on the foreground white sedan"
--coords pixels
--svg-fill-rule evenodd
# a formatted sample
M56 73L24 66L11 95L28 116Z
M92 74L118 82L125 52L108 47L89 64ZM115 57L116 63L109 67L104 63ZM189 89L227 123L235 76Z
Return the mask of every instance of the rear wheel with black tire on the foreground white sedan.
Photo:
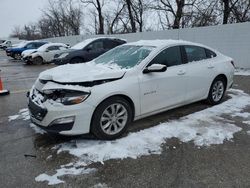
M217 88L217 89L216 89ZM216 77L210 87L207 102L211 105L221 103L226 91L226 80L219 76ZM217 97L216 97L217 96Z

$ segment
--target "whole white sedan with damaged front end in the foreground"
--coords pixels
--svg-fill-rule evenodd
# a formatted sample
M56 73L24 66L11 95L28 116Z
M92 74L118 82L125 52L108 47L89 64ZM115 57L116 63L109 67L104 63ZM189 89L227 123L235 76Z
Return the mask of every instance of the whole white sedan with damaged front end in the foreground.
M42 72L28 107L32 122L48 132L115 139L133 120L204 99L220 103L233 75L233 60L207 46L138 41Z

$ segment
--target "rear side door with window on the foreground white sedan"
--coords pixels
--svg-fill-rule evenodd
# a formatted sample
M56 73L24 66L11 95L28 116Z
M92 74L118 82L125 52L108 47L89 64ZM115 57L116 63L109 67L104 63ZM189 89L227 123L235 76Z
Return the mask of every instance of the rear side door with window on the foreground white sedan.
M183 46L187 60L187 101L197 101L206 97L215 71L213 58L206 49L195 45Z

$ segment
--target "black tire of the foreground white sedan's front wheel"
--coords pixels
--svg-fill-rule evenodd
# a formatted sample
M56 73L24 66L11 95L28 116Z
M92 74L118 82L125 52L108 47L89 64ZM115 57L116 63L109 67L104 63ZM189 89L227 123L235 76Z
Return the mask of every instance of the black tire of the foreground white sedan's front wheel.
M119 130L119 132L117 133L110 133L107 134L102 128L102 122L101 122L101 118L104 117L104 113L106 112L106 110L108 110L109 108L111 108L112 105L121 105L122 107L124 107L122 110L126 109L126 123L124 122L124 126L118 126L118 124L116 123L116 127L119 127L118 129L121 128L121 130ZM118 112L118 110L117 110ZM117 113L116 113L117 114ZM115 115L116 116L116 115ZM117 114L118 117L118 114ZM110 118L111 119L111 118ZM111 120L106 120L106 121L111 121ZM105 120L104 120L105 121ZM103 122L104 122L103 121ZM113 121L113 120L112 120ZM117 120L118 121L118 120ZM123 121L123 120L122 120ZM105 101L103 101L101 104L98 105L98 107L96 108L93 117L92 117L92 121L91 121L91 132L98 138L98 139L102 139L102 140L113 140L116 138L119 138L126 130L127 127L129 125L129 123L132 121L132 108L129 104L129 102L121 97L112 97L109 98ZM121 122L120 122L121 123ZM111 124L109 126L111 131L115 131L114 129L114 125ZM113 128L113 130L112 130ZM107 131L107 130L106 130Z

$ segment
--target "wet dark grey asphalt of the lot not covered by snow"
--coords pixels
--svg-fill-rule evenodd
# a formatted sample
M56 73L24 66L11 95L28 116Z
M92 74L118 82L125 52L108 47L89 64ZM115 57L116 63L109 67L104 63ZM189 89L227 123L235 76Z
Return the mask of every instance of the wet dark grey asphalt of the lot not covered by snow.
M0 51L1 78L5 88L11 92L0 97L1 187L47 187L46 182L38 183L35 177L44 172L54 174L60 165L74 160L68 153L56 154L51 149L72 138L35 134L28 121L8 122L8 116L27 107L26 92L38 74L52 67L23 65ZM234 88L250 94L250 76L236 76ZM133 123L129 131L146 129L208 107L204 102L198 102L151 116ZM250 109L245 111L250 112ZM192 142L182 143L172 138L162 146L161 155L109 160L104 165L92 164L96 172L65 176L62 179L66 183L50 187L250 187L250 136L246 134L247 127L240 118L232 119L243 128L234 135L233 142L198 148ZM52 158L46 160L49 155Z

